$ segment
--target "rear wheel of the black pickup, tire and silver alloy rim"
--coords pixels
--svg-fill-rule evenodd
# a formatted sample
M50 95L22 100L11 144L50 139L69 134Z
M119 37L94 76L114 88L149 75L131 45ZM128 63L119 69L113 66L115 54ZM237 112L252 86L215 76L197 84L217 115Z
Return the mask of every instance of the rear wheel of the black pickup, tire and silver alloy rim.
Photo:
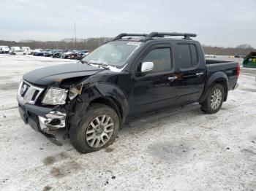
M221 109L223 100L224 88L220 84L215 84L208 91L206 99L200 104L201 111L206 114L215 114Z

